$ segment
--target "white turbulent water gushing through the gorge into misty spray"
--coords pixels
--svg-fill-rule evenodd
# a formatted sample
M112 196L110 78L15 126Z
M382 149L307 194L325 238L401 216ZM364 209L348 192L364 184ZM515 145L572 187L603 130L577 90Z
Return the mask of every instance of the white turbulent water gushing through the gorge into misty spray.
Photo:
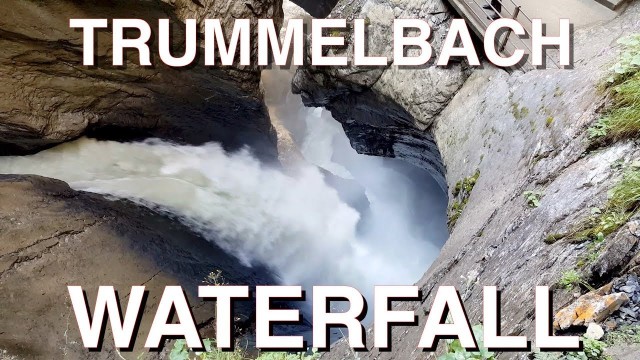
M369 293L374 284L415 282L446 237L441 190L408 165L355 154L328 113L305 109L279 88L280 77L290 75L273 75L265 79L267 90L280 94L269 97L272 110L304 125L294 138L309 163L294 172L215 143L80 139L3 158L0 173L44 175L160 206L242 262L268 266L285 284L345 284ZM359 182L370 208L360 214L347 205L313 164Z

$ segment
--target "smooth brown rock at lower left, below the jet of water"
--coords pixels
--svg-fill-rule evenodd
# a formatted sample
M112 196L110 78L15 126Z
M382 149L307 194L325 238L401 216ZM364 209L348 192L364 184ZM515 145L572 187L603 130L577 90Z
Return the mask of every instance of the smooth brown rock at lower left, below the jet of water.
M0 199L0 358L2 351L20 359L121 358L111 331L102 352L83 347L68 285L83 286L92 311L99 285L119 291L123 311L131 286L146 286L136 350L123 352L136 358L165 286L185 289L201 336L214 337L215 303L197 297L209 273L220 270L232 284L275 283L265 269L239 265L175 219L127 201L77 192L58 180L10 175L0 175ZM254 305L238 302L236 309L240 330Z

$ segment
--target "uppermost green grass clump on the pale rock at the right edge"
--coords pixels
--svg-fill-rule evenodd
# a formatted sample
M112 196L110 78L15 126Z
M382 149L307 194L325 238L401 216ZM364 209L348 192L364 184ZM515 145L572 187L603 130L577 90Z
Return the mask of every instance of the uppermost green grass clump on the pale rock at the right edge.
M604 115L588 129L589 138L615 141L640 134L640 34L620 39L620 60L607 81L612 101Z

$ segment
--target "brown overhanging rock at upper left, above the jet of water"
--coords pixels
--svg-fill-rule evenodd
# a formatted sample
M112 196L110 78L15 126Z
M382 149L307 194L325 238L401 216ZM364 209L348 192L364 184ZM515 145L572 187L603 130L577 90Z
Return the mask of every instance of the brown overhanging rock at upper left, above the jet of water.
M153 67L141 67L134 51L127 52L126 66L110 67L109 31L97 32L99 66L82 65L82 32L69 28L70 18L139 18L155 34L158 19L170 18L177 54L185 17L216 16L225 26L235 17L282 21L280 0L173 3L2 1L0 13L11 16L0 19L0 154L34 152L90 134L218 141L230 150L249 145L263 159L275 159L258 69L222 71L205 68L203 61L179 69L158 59ZM157 56L157 50L151 53Z

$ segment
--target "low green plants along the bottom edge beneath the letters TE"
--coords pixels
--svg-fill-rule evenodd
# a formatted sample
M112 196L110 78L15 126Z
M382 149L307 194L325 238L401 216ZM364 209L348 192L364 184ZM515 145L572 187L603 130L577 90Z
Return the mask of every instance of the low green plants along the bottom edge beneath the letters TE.
M173 348L169 353L170 360L317 360L320 355L313 353L307 355L304 353L285 353L285 352L269 352L262 353L257 358L248 357L244 351L236 349L233 352L225 352L215 347L215 341L206 339L203 341L205 351L193 352L187 346L185 340L176 340Z

